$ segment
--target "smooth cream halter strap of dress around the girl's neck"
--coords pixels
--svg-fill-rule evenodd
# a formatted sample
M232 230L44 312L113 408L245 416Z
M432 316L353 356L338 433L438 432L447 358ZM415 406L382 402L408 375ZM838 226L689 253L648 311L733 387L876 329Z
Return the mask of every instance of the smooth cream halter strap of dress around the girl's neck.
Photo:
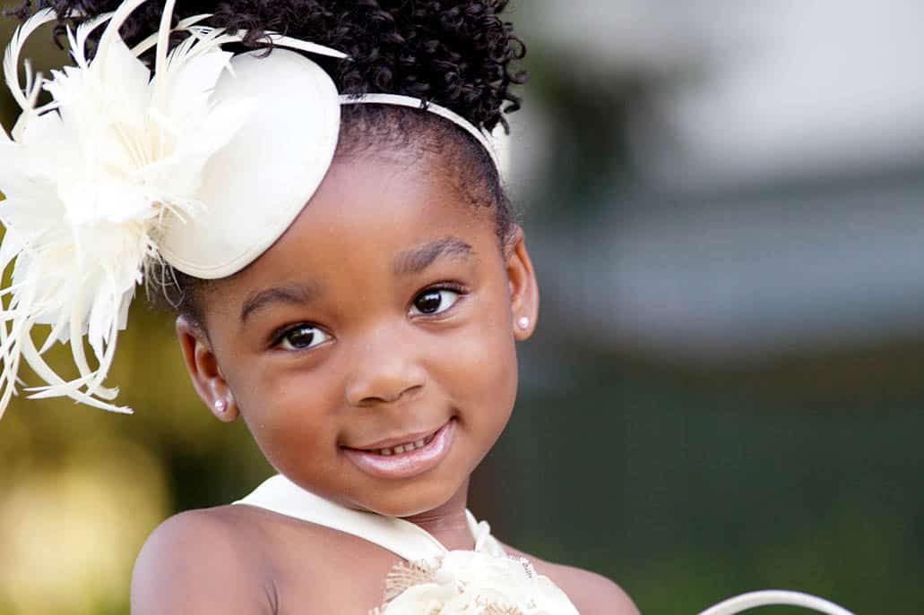
M363 538L407 561L432 560L447 552L439 540L419 525L397 517L355 511L324 500L282 475L268 478L247 497L234 503L257 506ZM505 554L500 543L491 536L488 524L483 521L478 523L468 511L466 520L475 550L491 555Z

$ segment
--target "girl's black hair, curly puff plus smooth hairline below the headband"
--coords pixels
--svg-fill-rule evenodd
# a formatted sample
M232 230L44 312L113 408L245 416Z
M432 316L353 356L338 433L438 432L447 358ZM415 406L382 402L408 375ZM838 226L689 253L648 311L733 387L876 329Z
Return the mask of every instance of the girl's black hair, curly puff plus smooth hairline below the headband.
M60 37L65 25L113 11L119 0L25 0L14 11L26 18L55 9ZM344 52L344 59L312 56L342 94L403 94L447 107L476 127L508 129L503 114L516 111L512 91L526 81L517 61L526 47L501 18L508 0L177 0L174 22L211 13L205 22L243 30L244 47L263 47L267 32L279 32ZM149 0L121 28L129 45L158 29L163 5ZM476 204L491 205L502 240L513 213L490 157L468 133L435 115L379 104L343 108L337 156L371 146L408 147L440 153L454 169L458 187ZM179 289L171 302L201 322L198 296L207 285L179 271L164 271Z

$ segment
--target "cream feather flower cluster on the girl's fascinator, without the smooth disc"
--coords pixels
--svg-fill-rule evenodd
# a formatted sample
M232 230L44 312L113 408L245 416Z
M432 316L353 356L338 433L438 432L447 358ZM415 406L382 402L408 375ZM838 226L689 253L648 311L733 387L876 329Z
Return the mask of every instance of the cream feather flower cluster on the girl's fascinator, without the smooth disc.
M30 398L66 396L81 404L128 413L113 403L117 390L103 386L128 306L151 263L164 216L200 215L201 170L230 141L249 115L249 97L213 104L218 78L231 54L221 45L234 37L198 32L168 50L173 0L155 38L152 76L118 35L144 0L127 0L114 13L67 30L75 66L51 78L18 60L29 35L55 19L40 11L14 33L4 57L6 83L23 113L10 138L0 139L0 272L12 266L13 283L0 296L0 416L19 385L24 360L43 385ZM201 16L200 16L201 17ZM199 18L180 22L183 30ZM86 42L105 30L92 61ZM52 102L35 108L40 90ZM35 325L51 325L40 347ZM84 350L86 337L95 368ZM70 346L78 377L65 380L43 355L56 342Z

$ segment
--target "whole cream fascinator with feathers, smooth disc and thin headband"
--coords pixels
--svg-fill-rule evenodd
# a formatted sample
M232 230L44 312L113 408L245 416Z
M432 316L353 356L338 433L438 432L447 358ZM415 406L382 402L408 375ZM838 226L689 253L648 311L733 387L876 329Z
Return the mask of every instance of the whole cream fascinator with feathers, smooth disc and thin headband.
M0 416L22 360L44 381L27 389L30 398L66 396L130 413L103 380L138 284L156 283L149 271L161 261L226 277L272 246L330 167L341 104L440 115L477 139L500 170L492 143L465 118L406 96L341 96L320 66L288 50L346 57L329 47L270 32L274 46L288 49L231 54L222 45L245 32L201 26L210 15L171 28L175 0L166 0L158 31L129 49L118 29L144 1L68 27L75 66L50 78L27 60L21 83L18 65L30 34L57 18L52 9L25 21L6 49L6 84L22 113L10 135L0 130L0 271L13 270L0 291ZM86 42L103 25L88 60ZM188 37L171 50L175 31ZM139 59L151 49L153 70ZM39 105L42 90L52 101ZM30 335L37 324L51 326L42 344ZM45 361L56 342L69 344L77 378L61 378Z

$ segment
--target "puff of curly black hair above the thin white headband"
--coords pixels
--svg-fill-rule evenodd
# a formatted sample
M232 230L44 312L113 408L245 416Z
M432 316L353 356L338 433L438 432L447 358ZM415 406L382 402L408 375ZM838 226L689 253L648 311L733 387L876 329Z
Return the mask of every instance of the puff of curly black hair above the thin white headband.
M79 22L115 10L119 0L27 0L17 13L52 7ZM245 44L277 31L338 49L348 58L322 62L345 94L413 96L462 115L477 127L506 127L503 113L520 99L512 86L526 81L515 68L526 47L501 18L508 0L178 0L175 18L213 13L210 25L246 30ZM160 2L149 1L126 21L132 44L157 30ZM74 16L80 16L75 18ZM62 32L59 29L58 33Z

